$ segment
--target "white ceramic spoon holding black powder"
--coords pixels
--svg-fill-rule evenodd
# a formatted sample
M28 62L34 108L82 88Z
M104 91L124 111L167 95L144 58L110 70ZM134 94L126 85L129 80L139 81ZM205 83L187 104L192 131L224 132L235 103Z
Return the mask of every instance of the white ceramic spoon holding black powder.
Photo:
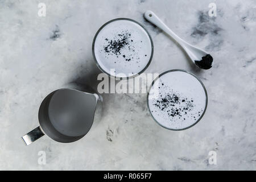
M187 52L190 59L197 65L197 67L202 69L210 69L212 68L213 58L209 55L208 52L205 52L204 50L197 48L195 46L192 46L191 44L185 42L185 40L179 38L173 31L171 31L170 28L166 26L156 16L152 11L146 11L144 13L144 18L148 20L148 22L151 22L155 24L155 26L162 29L164 32L166 32L168 35L170 35L174 40L176 40L177 43L180 44L180 46Z

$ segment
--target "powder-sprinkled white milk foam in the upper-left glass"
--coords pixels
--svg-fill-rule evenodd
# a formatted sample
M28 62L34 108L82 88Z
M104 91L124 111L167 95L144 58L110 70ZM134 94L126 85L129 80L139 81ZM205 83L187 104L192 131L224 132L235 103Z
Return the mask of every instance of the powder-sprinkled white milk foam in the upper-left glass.
M98 65L109 74L110 69L115 69L114 74L118 77L133 76L143 71L151 53L150 36L141 25L131 20L110 22L98 32L94 42Z

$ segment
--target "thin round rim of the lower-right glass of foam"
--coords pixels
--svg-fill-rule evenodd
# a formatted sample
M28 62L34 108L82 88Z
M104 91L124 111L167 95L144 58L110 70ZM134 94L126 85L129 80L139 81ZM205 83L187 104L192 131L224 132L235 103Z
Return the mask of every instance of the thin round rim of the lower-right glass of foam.
M159 123L159 122L155 119L155 117L152 115L152 113L151 113L151 111L150 111L150 107L149 107L149 105L148 105L148 96L149 96L150 90L151 90L152 86L154 85L155 81L158 80L161 76L165 75L166 73L176 72L176 71L185 72L185 73L188 73L189 75L192 75L193 77L195 77L195 78L201 83L201 85L202 85L203 88L204 88L204 92L205 92L205 107L204 107L203 114L200 116L199 119L197 119L197 121L196 121L195 123L193 123L192 125L190 125L190 126L188 126L188 127L185 127L184 129L171 129L171 128L168 128L168 127L166 127L166 126L163 126L163 125L162 125L161 123ZM150 112L151 117L154 119L154 121L155 121L156 123L158 123L158 125L164 127L165 129L168 129L168 130L181 131L181 130L189 129L189 128L192 127L192 126L195 126L195 125L201 120L201 118L203 118L203 116L204 116L204 114L205 114L205 111L207 110L207 105L208 105L208 94L207 94L207 90L205 89L205 86L204 86L203 82L202 82L199 78L197 78L197 76L195 76L193 73L189 73L189 72L185 71L184 69L171 69L171 70L169 70L169 71L166 71L166 72L161 73L158 78L155 78L155 80L152 81L152 84L150 85L150 89L148 89L148 93L147 93L147 109L148 109L148 111Z

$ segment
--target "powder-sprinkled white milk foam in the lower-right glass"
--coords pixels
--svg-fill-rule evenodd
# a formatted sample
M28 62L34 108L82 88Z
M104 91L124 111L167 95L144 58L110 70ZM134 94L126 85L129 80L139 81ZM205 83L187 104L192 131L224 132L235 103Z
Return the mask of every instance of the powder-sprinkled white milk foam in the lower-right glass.
M158 98L148 100L152 116L167 129L181 130L195 124L206 108L207 96L196 77L183 71L168 72L152 85L159 87Z

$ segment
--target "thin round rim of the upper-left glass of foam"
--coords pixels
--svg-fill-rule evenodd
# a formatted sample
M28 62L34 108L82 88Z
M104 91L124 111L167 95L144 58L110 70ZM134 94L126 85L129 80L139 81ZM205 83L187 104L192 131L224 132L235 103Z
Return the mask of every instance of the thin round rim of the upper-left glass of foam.
M98 33L99 33L99 32L102 30L102 28L104 28L106 25L108 25L109 23L112 23L112 22L114 22L114 21L117 21L117 20L129 20L129 21L131 21L131 22L137 23L139 26L141 26L141 27L143 28L144 31L146 31L148 37L150 38L150 42L151 42L151 56L150 56L150 59L148 60L148 63L147 63L147 65L146 65L146 67L144 67L141 72L139 72L139 73L137 73L137 74L135 74L135 75L133 75L133 76L130 76L130 77L117 77L117 76L110 75L110 73L106 72L103 68L101 68L100 64L98 64L98 61L97 61L96 56L95 56L95 53L94 53L94 44L95 44L95 40L96 40L96 38L97 38L97 36L98 36ZM94 36L94 38L93 38L92 54L93 54L93 59L94 59L96 65L97 65L97 67L98 67L102 72L106 73L106 75L108 75L108 76L110 76L110 77L114 77L114 78L120 78L121 80L122 80L122 79L129 79L129 78L134 78L134 77L137 77L137 76L141 75L141 73L143 73L143 72L148 68L148 66L149 66L150 63L151 63L152 57L153 57L153 55L154 55L154 43L153 43L153 40L152 40L152 38L151 38L151 35L149 34L149 32L146 30L146 28L144 28L144 26L143 26L141 23L139 23L139 22L137 22L137 21L135 21L135 20L133 20L133 19L130 19L130 18L116 18L116 19L112 19L112 20L109 20L108 22L104 23L104 24L98 29L98 31L96 32L96 34L95 34L95 36Z

